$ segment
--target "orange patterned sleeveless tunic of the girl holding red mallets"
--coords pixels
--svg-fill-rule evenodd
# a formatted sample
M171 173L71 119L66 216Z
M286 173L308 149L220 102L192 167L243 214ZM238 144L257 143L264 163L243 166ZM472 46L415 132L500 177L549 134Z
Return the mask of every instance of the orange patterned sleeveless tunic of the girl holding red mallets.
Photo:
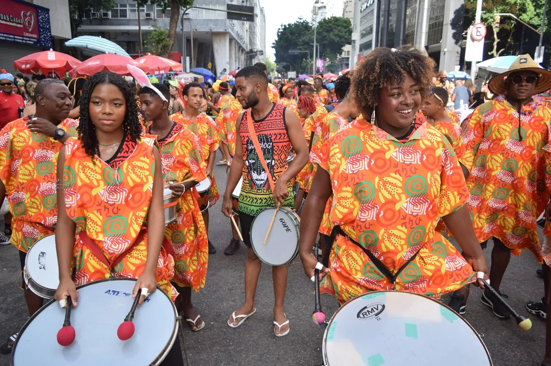
M99 156L86 154L82 142L69 138L65 143L63 186L67 215L77 224L111 263L129 248L130 252L114 271L96 258L77 236L73 257L74 281L84 285L109 277L138 278L147 261L148 234L145 222L153 194L155 140L139 138L134 151L112 168ZM170 284L174 259L161 248L156 280L172 298L177 292Z

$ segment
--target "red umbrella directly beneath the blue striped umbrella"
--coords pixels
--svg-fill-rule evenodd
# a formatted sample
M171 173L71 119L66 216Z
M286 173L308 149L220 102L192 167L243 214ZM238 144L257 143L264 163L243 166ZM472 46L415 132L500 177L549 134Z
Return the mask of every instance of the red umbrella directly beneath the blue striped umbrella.
M100 71L110 71L119 75L130 75L126 65L133 65L141 68L144 73L147 73L149 68L135 61L134 59L120 54L104 53L98 54L98 56L90 57L77 67L71 70L71 74L74 76L94 75Z

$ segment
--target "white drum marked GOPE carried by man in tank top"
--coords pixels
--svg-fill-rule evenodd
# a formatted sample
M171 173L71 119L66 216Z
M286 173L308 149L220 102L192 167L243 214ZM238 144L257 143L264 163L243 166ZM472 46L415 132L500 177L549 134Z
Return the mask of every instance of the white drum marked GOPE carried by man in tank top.
M279 207L268 240L268 232L274 207L268 207L258 214L251 223L251 244L258 258L272 266L286 265L299 255L300 217L287 207Z

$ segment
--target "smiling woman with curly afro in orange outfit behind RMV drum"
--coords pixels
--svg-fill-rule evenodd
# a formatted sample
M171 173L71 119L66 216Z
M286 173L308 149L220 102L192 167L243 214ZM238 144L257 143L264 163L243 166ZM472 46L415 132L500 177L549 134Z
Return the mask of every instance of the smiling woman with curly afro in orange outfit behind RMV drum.
M324 253L325 291L342 304L359 294L396 289L439 297L488 267L464 204L468 191L450 144L415 114L428 96L434 61L412 46L376 48L352 76L359 119L330 137L303 210L300 257L308 277L323 209L331 194L335 225ZM441 234L442 217L468 264ZM487 278L487 275L485 275ZM482 281L478 281L482 285Z

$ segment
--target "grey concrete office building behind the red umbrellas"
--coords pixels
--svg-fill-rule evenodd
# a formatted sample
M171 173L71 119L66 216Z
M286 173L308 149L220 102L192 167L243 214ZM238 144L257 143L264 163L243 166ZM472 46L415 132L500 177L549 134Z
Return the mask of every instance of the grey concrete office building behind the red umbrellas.
M131 54L139 56L138 9L132 0L116 0L113 9L88 9L79 35L101 36ZM246 22L228 19L227 4L254 7L255 21ZM245 65L264 60L266 51L266 17L260 0L195 0L194 7L180 17L177 37L171 58L188 60L190 68L208 68L221 74ZM148 51L148 35L154 26L169 28L171 9L147 4L140 9L142 28L142 51ZM262 52L257 52L262 51ZM258 55L258 56L257 56Z

